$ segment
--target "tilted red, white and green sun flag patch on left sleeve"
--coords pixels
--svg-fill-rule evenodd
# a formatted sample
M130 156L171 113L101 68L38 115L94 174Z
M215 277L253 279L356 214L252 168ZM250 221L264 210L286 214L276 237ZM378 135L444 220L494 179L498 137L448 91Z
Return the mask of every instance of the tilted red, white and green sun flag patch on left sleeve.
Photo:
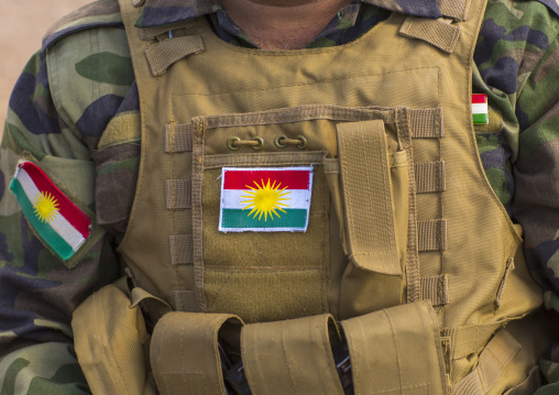
M10 183L23 215L43 242L63 261L91 234L91 220L34 163L22 161Z

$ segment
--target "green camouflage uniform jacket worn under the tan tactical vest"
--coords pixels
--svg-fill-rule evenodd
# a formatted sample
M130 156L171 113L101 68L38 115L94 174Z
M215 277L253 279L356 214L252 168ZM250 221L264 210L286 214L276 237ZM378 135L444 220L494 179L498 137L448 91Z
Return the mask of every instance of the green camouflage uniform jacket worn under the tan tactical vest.
M435 0L354 0L309 47L352 41L390 11L440 15ZM476 128L487 178L514 221L523 224L529 266L547 307L559 311L557 12L556 0L490 0L474 54L473 90L487 94L492 120L503 119ZM217 1L147 0L136 25L202 15L223 40L252 46ZM63 61L53 64L53 54ZM1 146L0 395L89 393L69 321L77 305L120 275L114 250L134 197L139 117L117 2L97 1L58 22L15 86ZM36 239L8 191L24 151L74 201L96 211L103 229L73 268ZM553 361L559 361L559 350L550 348L540 366L550 382L559 383ZM557 393L559 384L549 384L537 394Z

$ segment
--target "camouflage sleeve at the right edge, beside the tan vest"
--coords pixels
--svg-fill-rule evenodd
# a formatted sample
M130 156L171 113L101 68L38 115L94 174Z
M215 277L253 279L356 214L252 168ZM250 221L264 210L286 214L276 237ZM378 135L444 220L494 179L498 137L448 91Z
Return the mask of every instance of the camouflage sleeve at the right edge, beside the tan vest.
M526 18L522 9L514 11L517 19ZM544 288L546 307L559 314L559 19L547 10L535 12L530 29L524 30L526 46L515 81L519 134L512 210L524 228L525 255ZM557 345L541 358L540 367L550 384L537 394L557 394Z

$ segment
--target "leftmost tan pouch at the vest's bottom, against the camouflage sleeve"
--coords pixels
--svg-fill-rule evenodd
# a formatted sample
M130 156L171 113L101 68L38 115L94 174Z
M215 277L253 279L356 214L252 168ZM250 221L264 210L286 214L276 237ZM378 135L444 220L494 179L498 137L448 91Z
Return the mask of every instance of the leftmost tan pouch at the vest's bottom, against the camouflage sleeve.
M150 336L125 282L107 285L87 298L72 318L79 365L94 395L155 395L144 348Z

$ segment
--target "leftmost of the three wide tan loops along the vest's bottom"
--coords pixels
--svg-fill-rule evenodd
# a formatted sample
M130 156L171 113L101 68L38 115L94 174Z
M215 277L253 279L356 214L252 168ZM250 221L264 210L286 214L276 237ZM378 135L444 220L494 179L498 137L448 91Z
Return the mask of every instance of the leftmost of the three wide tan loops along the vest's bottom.
M226 394L218 332L242 326L226 314L169 312L153 330L150 359L160 394Z

